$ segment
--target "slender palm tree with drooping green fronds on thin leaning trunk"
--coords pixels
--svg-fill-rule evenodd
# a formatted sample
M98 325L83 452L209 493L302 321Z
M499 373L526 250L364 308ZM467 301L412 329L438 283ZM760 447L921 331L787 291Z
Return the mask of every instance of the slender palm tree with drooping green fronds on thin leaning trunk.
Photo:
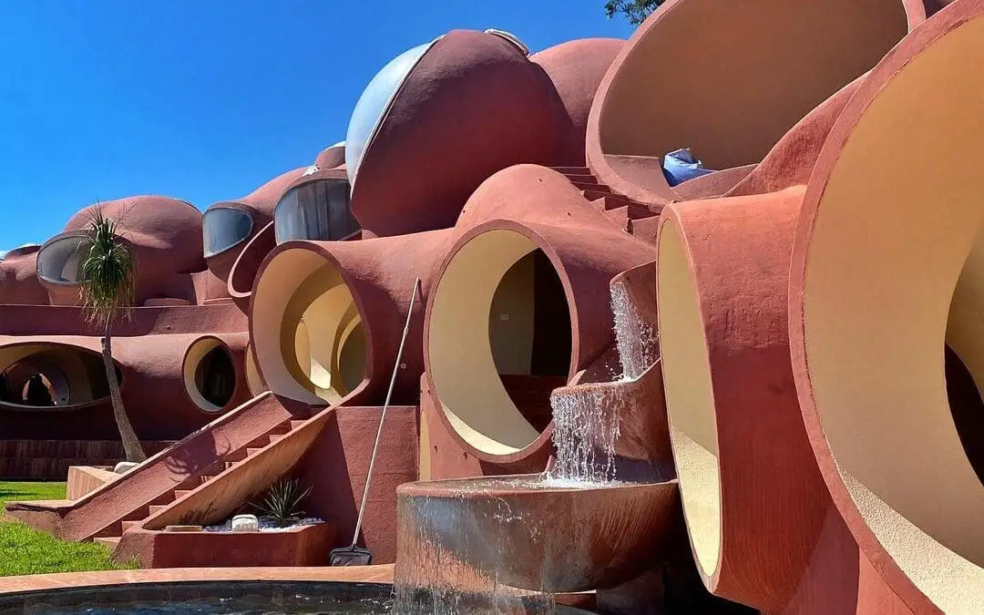
M129 315L127 308L133 303L136 277L130 247L116 232L117 227L117 221L103 215L102 208L96 203L79 244L82 255L79 279L82 280L83 307L88 320L104 328L102 364L106 369L109 397L120 440L123 441L123 451L127 461L139 462L146 460L147 454L140 446L137 432L123 407L113 363L112 324L120 312Z

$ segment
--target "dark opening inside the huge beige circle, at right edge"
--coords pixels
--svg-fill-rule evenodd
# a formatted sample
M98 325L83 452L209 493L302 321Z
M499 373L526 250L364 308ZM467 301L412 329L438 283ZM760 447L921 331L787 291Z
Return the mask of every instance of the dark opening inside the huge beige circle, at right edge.
M984 482L984 400L970 371L949 345L944 349L947 399L963 452Z

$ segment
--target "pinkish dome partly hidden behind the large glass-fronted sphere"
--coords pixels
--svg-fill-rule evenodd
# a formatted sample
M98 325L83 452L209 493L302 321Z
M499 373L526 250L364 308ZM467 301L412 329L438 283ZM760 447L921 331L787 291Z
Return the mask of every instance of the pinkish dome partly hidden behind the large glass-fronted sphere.
M584 135L594 94L625 43L620 38L582 38L530 56L550 77L569 120L561 135L558 164L584 165Z

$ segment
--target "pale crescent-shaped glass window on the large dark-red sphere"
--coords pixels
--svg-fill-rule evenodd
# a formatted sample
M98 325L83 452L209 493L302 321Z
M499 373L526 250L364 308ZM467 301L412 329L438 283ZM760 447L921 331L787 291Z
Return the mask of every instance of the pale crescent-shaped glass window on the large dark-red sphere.
M387 110L393 103L394 97L400 91L400 86L406 81L410 71L417 65L420 58L437 42L434 41L417 45L400 53L390 60L390 63L376 73L369 85L355 103L355 110L348 121L348 132L345 134L345 169L348 172L348 183L355 183L362 155L372 141L373 135L386 116Z

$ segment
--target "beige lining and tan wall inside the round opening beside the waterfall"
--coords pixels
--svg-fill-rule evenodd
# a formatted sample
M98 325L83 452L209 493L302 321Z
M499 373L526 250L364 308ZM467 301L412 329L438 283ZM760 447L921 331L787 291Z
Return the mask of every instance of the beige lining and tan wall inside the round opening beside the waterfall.
M516 453L539 436L500 379L530 373L532 268L521 261L536 250L514 230L481 233L461 246L434 290L427 341L434 389L455 431L489 455Z

